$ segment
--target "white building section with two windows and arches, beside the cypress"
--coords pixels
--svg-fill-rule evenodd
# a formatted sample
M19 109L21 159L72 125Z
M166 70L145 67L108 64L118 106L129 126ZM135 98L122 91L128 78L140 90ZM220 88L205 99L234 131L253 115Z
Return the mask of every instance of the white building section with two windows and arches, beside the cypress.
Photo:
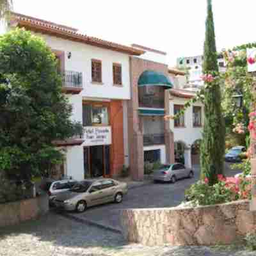
M184 108L189 99L195 97L195 92L171 89L169 115L174 116ZM178 119L170 119L170 129L173 131L175 161L182 161L191 168L199 164L199 144L202 139L204 126L204 105L196 102L186 109L184 115Z

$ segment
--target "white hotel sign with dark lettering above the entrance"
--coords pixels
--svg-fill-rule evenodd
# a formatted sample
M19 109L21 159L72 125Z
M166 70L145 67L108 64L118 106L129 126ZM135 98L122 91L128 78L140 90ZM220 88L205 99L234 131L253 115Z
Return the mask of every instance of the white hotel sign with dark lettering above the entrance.
M110 145L112 143L111 126L84 127L83 146Z

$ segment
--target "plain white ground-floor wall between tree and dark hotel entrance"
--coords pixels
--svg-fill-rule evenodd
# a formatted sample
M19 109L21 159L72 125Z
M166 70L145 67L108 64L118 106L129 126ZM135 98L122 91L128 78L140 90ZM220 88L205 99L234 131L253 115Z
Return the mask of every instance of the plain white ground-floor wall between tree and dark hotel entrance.
M67 147L66 153L66 175L73 179L84 179L84 154L82 146Z

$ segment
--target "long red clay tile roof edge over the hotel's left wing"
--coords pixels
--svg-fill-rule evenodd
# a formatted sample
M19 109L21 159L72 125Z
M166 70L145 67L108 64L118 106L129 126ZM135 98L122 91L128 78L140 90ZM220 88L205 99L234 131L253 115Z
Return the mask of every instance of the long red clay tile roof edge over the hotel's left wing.
M45 33L48 35L54 35L57 37L65 38L68 40L89 44L112 51L123 52L131 55L141 55L144 51L135 49L133 47L116 44L92 36L86 36L77 33L77 29L62 26L56 23L49 22L47 20L36 19L19 13L12 12L12 21L17 22L17 26L20 28L26 28L31 31Z

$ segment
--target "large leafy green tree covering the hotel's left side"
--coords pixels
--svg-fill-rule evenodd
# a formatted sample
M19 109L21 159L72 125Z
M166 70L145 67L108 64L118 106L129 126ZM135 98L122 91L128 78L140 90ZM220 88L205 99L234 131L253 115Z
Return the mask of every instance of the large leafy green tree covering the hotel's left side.
M81 132L61 93L57 61L24 29L0 36L0 172L29 180L62 160L52 141Z

